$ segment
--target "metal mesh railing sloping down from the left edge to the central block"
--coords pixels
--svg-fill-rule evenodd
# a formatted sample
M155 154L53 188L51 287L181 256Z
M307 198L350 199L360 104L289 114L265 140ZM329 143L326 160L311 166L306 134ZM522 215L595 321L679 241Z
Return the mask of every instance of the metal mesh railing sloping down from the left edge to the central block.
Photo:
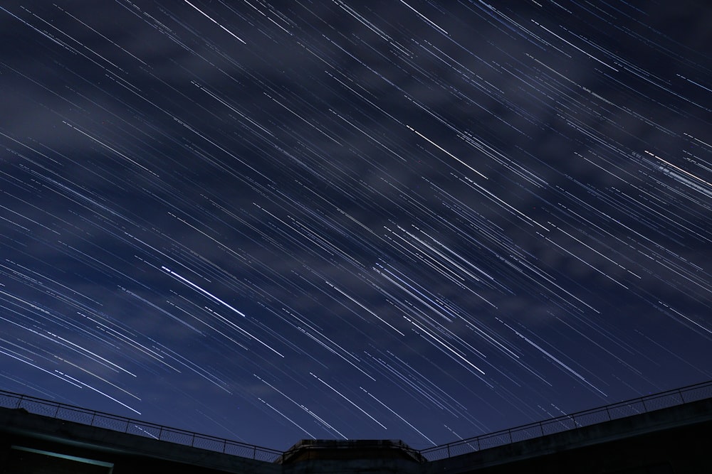
M10 409L24 409L32 414L49 416L50 418L74 423L96 426L98 428L120 431L145 438L168 441L169 443L192 446L194 448L207 449L219 453L231 454L242 458L250 458L274 462L282 451L271 448L263 448L252 444L230 441L229 439L217 438L207 434L194 433L177 428L169 428L154 423L138 421L125 416L116 416L103 411L88 410L80 406L73 406L51 400L29 397L28 395L16 394L0 390L0 406Z

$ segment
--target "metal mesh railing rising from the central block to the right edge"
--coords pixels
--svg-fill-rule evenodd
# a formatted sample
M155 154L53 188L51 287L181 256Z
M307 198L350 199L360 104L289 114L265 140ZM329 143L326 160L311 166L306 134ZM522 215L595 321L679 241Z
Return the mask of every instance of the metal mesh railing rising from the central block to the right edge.
M497 446L516 443L525 439L539 438L540 436L560 431L603 423L604 421L625 418L710 397L712 397L712 381L646 395L645 397L625 400L624 402L594 409L577 411L576 413L557 416L545 421L536 421L535 423L495 431L494 433L474 436L473 438L422 449L420 454L429 461L451 458L461 454L496 448Z

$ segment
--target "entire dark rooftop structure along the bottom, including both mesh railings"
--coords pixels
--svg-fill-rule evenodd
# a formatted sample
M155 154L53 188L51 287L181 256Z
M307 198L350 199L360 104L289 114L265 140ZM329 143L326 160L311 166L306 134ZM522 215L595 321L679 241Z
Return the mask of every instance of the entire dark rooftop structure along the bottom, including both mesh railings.
M416 451L304 440L286 452L0 391L0 473L712 472L712 382Z

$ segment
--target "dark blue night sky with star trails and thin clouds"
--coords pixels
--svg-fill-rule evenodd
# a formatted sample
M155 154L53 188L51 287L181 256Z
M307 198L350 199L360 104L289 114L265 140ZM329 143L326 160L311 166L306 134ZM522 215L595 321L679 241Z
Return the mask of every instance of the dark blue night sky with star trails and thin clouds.
M0 388L414 448L712 379L706 1L0 4Z

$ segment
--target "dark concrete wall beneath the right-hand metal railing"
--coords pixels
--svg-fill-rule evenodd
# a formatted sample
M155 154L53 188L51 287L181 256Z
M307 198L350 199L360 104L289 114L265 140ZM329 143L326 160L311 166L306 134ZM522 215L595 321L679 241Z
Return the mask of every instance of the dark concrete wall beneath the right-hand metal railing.
M712 473L712 399L423 465L422 474Z

